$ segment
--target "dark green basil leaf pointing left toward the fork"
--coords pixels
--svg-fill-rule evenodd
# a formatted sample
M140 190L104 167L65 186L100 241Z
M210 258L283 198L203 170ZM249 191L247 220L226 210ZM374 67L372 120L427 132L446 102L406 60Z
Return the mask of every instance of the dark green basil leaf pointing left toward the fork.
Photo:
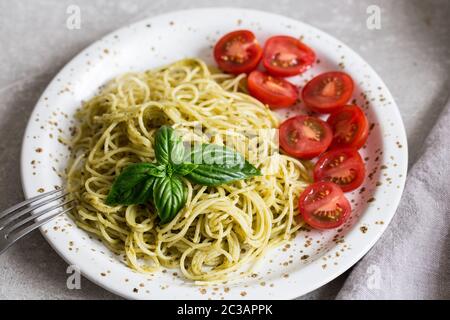
M115 179L105 203L107 205L144 204L152 196L156 177L164 177L165 168L153 163L135 163Z

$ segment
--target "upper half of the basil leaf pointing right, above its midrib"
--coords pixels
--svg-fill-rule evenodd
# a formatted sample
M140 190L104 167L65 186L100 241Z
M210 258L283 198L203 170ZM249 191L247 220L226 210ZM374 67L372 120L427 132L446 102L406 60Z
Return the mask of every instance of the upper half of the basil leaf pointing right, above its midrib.
M185 160L195 164L218 165L224 168L237 166L243 168L245 165L245 159L240 153L217 144L196 146Z

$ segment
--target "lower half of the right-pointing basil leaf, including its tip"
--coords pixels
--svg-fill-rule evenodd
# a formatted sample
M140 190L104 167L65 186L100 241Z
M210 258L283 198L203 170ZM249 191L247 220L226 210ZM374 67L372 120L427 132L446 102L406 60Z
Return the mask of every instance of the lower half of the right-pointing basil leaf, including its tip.
M213 187L259 175L261 172L245 161L243 166L235 167L200 164L186 178L193 183Z

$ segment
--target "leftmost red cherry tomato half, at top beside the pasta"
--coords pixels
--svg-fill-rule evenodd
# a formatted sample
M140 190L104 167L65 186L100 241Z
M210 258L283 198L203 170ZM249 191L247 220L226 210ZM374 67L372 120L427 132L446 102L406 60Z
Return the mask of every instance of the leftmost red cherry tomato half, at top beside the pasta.
M227 33L214 47L214 59L219 68L232 74L254 70L261 56L261 46L253 32L248 30Z

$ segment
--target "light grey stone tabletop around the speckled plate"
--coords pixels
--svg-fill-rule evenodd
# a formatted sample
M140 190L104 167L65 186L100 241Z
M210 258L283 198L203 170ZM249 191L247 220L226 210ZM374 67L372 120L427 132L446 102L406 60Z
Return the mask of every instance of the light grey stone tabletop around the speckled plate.
M70 4L81 29L66 28ZM366 27L366 9L382 9L381 30ZM19 157L27 119L47 83L81 49L107 32L183 8L249 7L302 20L359 52L384 79L400 107L410 164L449 94L448 0L0 0L0 209L23 199ZM0 299L117 299L83 279L66 287L66 264L35 232L0 256ZM302 299L330 299L345 275Z

